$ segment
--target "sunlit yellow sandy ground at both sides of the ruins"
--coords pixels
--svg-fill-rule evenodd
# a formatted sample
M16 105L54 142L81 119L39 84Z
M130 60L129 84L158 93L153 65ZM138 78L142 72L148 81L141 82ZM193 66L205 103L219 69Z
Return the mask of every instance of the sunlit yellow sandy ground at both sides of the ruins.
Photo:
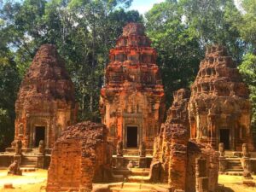
M23 172L23 176L8 176L7 170L0 170L0 192L45 192L46 179L47 170ZM225 192L256 192L256 187L245 187L241 181L241 176L218 177L218 183L224 184ZM4 183L12 183L14 189L3 189Z

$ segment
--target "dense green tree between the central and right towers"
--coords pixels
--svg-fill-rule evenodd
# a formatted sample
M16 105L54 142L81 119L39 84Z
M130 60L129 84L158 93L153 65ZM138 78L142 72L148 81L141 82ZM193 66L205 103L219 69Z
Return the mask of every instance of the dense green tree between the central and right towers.
M158 65L168 104L172 92L189 88L202 58L198 38L183 23L183 12L176 1L155 4L146 14L148 36L158 51Z

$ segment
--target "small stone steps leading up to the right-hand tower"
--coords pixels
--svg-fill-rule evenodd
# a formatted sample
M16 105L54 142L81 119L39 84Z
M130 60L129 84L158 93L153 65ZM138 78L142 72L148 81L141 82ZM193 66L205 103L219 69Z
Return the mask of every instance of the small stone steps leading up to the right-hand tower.
M242 172L243 172L243 169L241 166L240 158L230 158L228 160L226 174L241 176Z

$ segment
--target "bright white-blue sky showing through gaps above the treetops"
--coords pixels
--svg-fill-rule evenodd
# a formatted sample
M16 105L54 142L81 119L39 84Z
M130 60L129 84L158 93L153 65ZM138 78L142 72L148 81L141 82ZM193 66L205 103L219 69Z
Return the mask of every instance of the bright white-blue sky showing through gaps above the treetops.
M133 0L131 3L131 8L130 9L135 9L138 10L140 14L145 14L148 10L150 10L154 3L161 3L164 2L165 0ZM239 3L241 0L234 0L236 7L239 7Z

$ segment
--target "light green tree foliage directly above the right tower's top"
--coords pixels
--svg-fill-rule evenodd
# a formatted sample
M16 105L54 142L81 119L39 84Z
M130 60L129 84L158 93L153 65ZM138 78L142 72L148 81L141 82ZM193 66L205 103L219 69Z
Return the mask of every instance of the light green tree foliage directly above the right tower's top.
M241 12L233 0L181 0L179 3L184 23L199 38L201 47L222 44L237 63L241 62L244 44L235 25L241 22Z

